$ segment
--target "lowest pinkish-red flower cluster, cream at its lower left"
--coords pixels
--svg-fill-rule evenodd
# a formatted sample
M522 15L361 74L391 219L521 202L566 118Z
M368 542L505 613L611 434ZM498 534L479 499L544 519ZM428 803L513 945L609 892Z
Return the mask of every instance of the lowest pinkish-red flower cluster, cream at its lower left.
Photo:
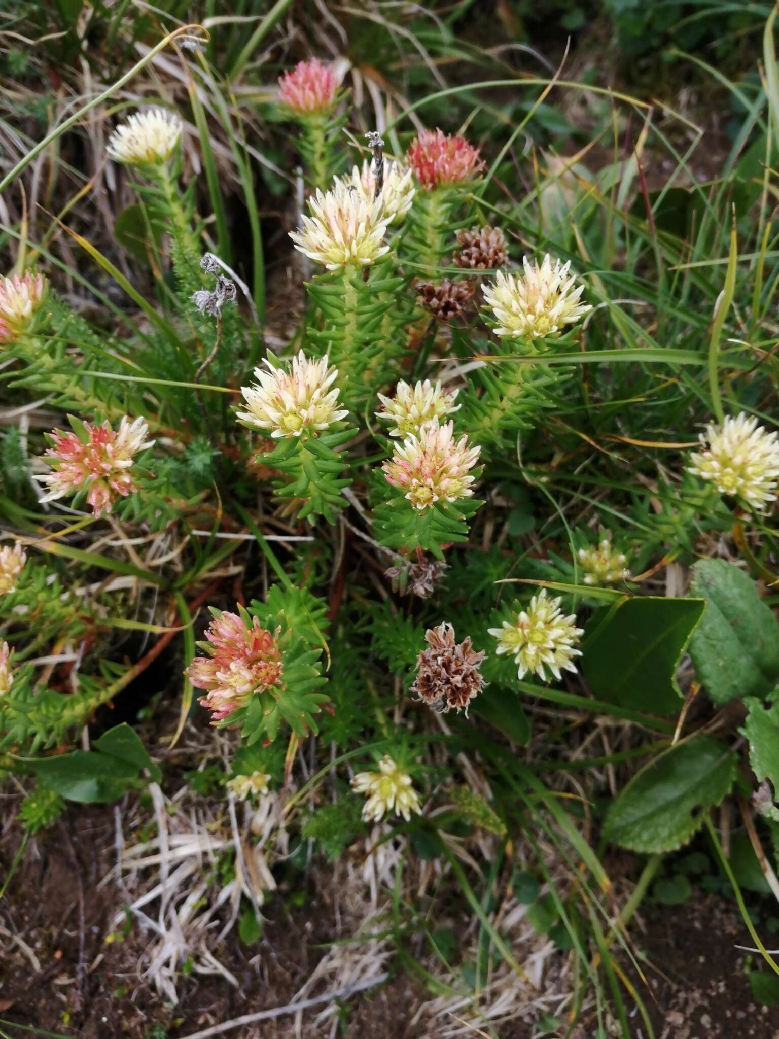
M248 617L248 615L246 615ZM278 632L271 635L257 617L251 625L236 613L220 613L197 644L208 657L195 657L186 670L197 689L205 689L199 703L214 721L245 707L254 693L278 685L284 672Z

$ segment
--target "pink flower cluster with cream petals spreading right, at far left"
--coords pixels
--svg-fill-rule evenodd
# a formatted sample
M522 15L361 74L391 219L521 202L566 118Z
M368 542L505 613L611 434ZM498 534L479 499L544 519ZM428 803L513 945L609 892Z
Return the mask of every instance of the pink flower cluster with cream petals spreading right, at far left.
M41 500L51 502L87 490L87 504L100 516L110 512L118 498L127 498L138 489L131 472L133 458L139 451L151 448L154 441L146 441L149 427L142 419L131 422L127 416L116 431L108 422L101 426L85 422L84 432L85 439L61 429L48 436L51 446L46 457L53 472L37 477L50 487Z

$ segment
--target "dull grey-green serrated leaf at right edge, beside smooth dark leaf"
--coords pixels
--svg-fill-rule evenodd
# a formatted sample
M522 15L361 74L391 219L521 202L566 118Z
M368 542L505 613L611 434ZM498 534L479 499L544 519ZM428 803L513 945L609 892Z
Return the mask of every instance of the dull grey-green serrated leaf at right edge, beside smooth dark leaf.
M690 642L690 656L716 703L765 696L779 684L779 625L760 602L751 578L722 559L693 567L694 595L706 612Z

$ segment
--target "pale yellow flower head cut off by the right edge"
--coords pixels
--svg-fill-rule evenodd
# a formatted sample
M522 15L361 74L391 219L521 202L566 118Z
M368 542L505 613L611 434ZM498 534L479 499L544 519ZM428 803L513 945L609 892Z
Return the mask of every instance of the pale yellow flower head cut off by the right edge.
M774 501L779 484L776 430L770 433L742 411L735 419L727 416L721 426L707 426L699 439L705 450L690 455L690 473L755 509Z

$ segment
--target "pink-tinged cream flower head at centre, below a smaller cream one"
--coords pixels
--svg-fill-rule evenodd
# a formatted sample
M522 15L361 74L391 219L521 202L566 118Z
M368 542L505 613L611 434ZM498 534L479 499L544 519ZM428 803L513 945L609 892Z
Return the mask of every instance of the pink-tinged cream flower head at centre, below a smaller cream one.
M454 423L440 425L433 419L395 447L393 457L381 467L393 487L404 491L415 509L435 502L471 498L475 477L469 470L479 460L480 447L468 445L463 433L455 439Z

